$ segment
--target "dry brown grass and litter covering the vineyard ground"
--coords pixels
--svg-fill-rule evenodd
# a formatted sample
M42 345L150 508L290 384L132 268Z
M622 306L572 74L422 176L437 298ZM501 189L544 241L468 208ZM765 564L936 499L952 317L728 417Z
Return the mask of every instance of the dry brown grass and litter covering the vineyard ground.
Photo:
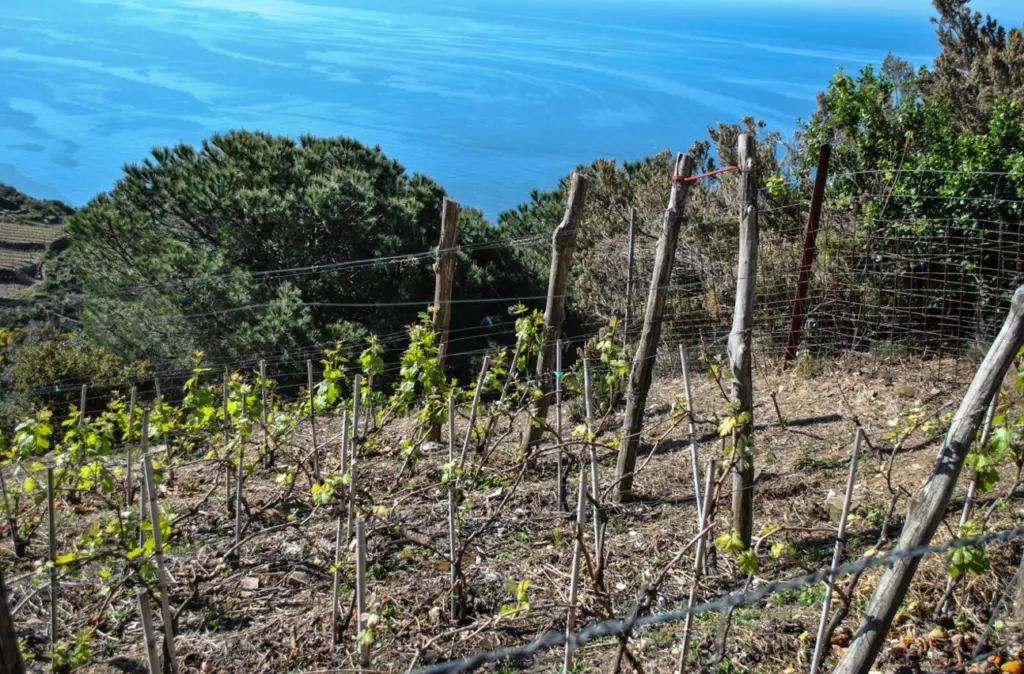
M922 369L926 367L934 372L928 373L929 383L923 386ZM936 377L937 372L948 375ZM873 546L880 513L890 501L879 466L888 458L891 443L882 435L914 404L929 410L954 408L964 391L963 379L970 373L966 364L922 364L870 356L849 356L825 365L804 364L785 373L762 368L755 410L759 469L755 529L768 524L777 529L761 543L765 554L755 583L790 578L827 563L835 525L826 497L829 490L843 491L855 419L865 428L874 450L866 450L858 466L857 514L850 524L850 554L863 554ZM775 413L770 397L773 391L785 427ZM648 453L653 453L635 486L642 498L608 508L604 580L608 600L620 616L629 609L641 586L656 576L696 532L685 424L669 432L655 447L672 426L670 408L680 399L681 392L679 380L663 378L655 382L641 463ZM694 395L701 422L701 451L718 451L714 431L716 417L724 413L722 394L715 384L701 380L695 384ZM321 437L338 431L336 420L327 425ZM616 428L617 419L608 420L601 437L613 439ZM492 455L484 471L486 478L465 485L466 499L472 507L465 512L464 531L476 531L487 522L489 526L474 540L466 555L470 589L466 621L452 625L446 620L446 501L439 483L446 451L428 449L414 472L400 473L403 460L392 448L398 447L402 432L408 430L408 422L388 428L377 447L360 457L365 503L387 509L386 515L372 519L369 535L371 609L382 617L374 648L374 670L406 671L414 663L422 665L524 643L545 630L562 629L571 522L554 504L555 463L551 453L539 454L516 483L519 464L516 444L510 439ZM911 491L918 488L930 470L938 443L939 437L920 431L908 437L894 459L895 485ZM614 470L614 450L602 451L600 461L601 480L607 487ZM325 448L324 462L328 467L337 465L337 445ZM216 468L209 463L186 465L177 470L175 488L162 494L168 509L187 513L176 524L179 532L172 541L172 596L174 603L181 606L178 650L187 671L353 671L351 625L343 647L337 654L330 652L329 570L334 556L334 515L328 509L311 509L304 478L300 479L304 494L282 501L284 489L274 482L274 471L257 469L246 487L246 534L289 521L306 523L257 536L243 546L239 559L224 560L222 556L232 543L231 519L225 511L223 486L214 485L216 474ZM574 469L570 474L575 474ZM574 492L572 480L570 492ZM498 512L506 497L504 509ZM721 507L723 512L727 510L727 497ZM901 504L897 515L903 509ZM993 529L1001 529L1022 514L1019 501L996 512L990 524ZM954 503L948 521L955 522L957 514L958 504ZM81 531L89 516L88 512L65 510L60 516L61 535L71 537ZM724 530L724 516L719 517L717 533ZM589 525L585 528L589 547L591 531ZM894 533L898 534L898 522ZM948 536L947 531L942 531L939 538ZM766 551L774 542L788 543L799 553L773 559ZM37 538L30 555L38 558L43 545L44 541ZM993 571L971 577L957 590L953 612L941 621L945 635L940 639L933 634L934 643L926 637L937 626L931 617L932 608L943 590L946 573L943 558L926 558L890 635L900 640L899 648L887 648L878 667L904 672L955 664L969 645L970 635L976 635L988 619L987 612L1015 571L1020 552L1019 542L988 550ZM342 565L342 606L346 612L353 580L351 564L348 556ZM29 568L27 562L14 563L9 557L4 559L4 565L8 579ZM745 575L728 555L718 553L715 567L714 575L702 584L700 596L710 598L743 586ZM654 610L685 605L689 568L689 562L684 561L670 573L655 598ZM853 615L844 623L845 631L837 636L836 648L841 648L845 635L856 629L857 616L879 575L874 571L861 580ZM95 578L92 571L87 571L80 579L68 579L63 590L69 627L86 624L95 616L98 636L90 661L95 665L84 671L143 671L140 627L127 588L115 587L113 596L103 597L96 593ZM530 610L500 619L502 605L513 600L505 582L523 579L530 582ZM15 603L31 592L25 580L12 585ZM813 637L808 639L807 634L813 634L816 628L821 595L820 586L806 588L737 609L723 667L731 665L740 672L783 672L791 666L797 670L806 667L813 647ZM581 625L601 615L599 599L593 584L586 581L580 598ZM105 606L103 610L101 606ZM27 635L30 648L43 647L46 617L39 595L26 602L17 615L17 625ZM719 618L701 616L695 627L691 663L693 658L699 658L707 664L716 650ZM1020 634L1021 625L1008 619L994 642L1019 642ZM644 671L667 672L675 667L679 643L679 625L654 626L634 636L631 650ZM580 654L577 671L610 671L615 649L616 643L610 639L592 643ZM524 667L530 671L556 671L560 658L560 652L550 654Z

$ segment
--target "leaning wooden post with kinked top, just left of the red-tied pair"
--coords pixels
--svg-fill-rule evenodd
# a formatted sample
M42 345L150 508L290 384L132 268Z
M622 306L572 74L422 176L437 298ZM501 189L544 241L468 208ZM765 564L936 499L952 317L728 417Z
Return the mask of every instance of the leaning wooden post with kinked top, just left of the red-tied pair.
M569 264L572 262L572 248L575 246L586 201L587 176L574 172L569 179L565 215L551 240L551 275L548 278L548 303L544 310L544 340L537 357L537 379L541 395L535 397L530 406L529 428L523 433L523 456L528 456L544 436L544 425L553 397L551 370L555 365L555 344L561 336L562 323L565 321L565 289L568 287Z

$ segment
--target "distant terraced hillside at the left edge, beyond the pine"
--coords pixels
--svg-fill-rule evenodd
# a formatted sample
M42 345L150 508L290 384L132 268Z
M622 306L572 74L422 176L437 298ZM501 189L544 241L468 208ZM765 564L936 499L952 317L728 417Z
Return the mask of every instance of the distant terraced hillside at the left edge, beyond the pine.
M0 182L0 298L42 279L46 250L62 245L65 220L74 212L67 204L33 199Z

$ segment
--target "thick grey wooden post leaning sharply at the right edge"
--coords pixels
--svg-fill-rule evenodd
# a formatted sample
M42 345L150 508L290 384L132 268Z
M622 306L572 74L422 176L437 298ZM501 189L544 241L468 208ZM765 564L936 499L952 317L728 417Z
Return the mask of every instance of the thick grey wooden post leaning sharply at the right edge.
M1022 344L1024 286L1014 293L1006 323L978 368L974 381L953 417L928 482L910 497L897 550L928 545L932 540L952 498L956 480L964 468L964 459L967 458L988 404L999 389L1002 378ZM857 636L837 667L836 674L864 674L870 669L920 562L920 557L907 557L893 562L886 570L874 589Z

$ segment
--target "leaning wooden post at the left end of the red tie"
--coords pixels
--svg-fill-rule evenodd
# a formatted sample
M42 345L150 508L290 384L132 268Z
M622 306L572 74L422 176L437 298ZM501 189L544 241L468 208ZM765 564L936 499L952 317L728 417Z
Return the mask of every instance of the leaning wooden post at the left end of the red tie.
M679 228L683 224L683 213L690 182L685 180L693 172L693 159L685 155L676 156L672 192L669 206L662 220L662 234L657 240L657 256L654 273L647 294L647 308L644 313L643 332L633 357L630 371L629 390L626 396L626 415L623 419L623 436L618 444L618 463L615 468L615 500L626 503L633 499L633 471L637 463L637 447L640 444L640 429L643 427L643 412L647 406L654 372L654 357L657 342L662 336L662 315L669 295L672 280L672 263L676 258L679 243ZM675 179L678 176L678 179Z

